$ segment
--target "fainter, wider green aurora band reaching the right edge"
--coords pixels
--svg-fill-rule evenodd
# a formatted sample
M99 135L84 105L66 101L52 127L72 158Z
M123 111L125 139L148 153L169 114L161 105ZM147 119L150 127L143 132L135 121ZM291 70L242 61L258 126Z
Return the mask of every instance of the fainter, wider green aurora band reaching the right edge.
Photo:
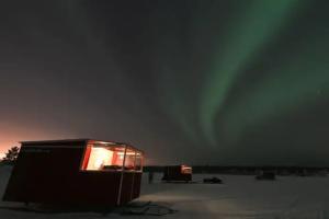
M288 61L282 61L281 67L271 69L261 83L242 94L224 116L228 122L228 132L238 137L248 123L264 123L277 114L298 111L329 96L329 62L326 57L329 44L326 42L316 38L311 47L300 48ZM282 71L285 73L276 77Z

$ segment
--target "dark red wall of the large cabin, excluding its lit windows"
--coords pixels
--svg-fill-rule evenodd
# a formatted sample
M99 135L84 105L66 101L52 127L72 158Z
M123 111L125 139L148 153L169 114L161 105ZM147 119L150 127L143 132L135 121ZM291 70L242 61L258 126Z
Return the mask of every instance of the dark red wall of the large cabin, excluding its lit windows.
M121 172L80 171L84 148L83 143L22 146L3 200L116 205ZM122 204L139 196L140 178L141 173L134 180L132 173L124 174Z

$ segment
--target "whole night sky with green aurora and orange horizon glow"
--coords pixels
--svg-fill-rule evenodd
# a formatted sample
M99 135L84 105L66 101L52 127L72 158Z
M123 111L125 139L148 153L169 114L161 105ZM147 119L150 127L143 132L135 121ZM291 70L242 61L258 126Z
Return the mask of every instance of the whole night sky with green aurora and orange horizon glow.
M329 1L5 1L0 152L129 142L151 164L329 165Z

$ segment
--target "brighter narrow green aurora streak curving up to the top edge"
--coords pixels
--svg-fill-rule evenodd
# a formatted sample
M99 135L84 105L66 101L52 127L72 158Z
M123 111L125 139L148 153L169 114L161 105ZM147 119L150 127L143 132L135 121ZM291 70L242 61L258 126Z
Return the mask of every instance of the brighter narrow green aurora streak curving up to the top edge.
M232 83L263 46L275 39L297 3L295 0L251 1L234 19L237 22L224 31L224 47L218 48L214 67L206 76L200 104L203 132L212 145L216 145L215 117Z

